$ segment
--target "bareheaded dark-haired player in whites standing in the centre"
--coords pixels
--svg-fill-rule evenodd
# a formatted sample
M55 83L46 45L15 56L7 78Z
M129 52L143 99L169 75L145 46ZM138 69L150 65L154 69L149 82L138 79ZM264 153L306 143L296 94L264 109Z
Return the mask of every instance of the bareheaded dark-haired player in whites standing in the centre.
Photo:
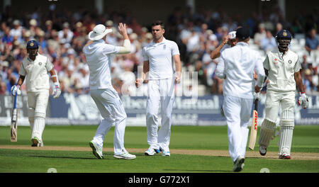
M150 147L145 152L145 155L148 156L159 152L162 152L162 156L170 156L169 141L171 137L174 90L175 84L180 82L181 77L179 48L176 42L164 38L164 32L164 23L162 21L152 23L154 40L142 50L144 59L143 73L135 81L136 86L139 87L145 79L148 79L146 126L147 143ZM176 67L175 76L173 61ZM162 113L162 126L158 130L157 114L159 106Z

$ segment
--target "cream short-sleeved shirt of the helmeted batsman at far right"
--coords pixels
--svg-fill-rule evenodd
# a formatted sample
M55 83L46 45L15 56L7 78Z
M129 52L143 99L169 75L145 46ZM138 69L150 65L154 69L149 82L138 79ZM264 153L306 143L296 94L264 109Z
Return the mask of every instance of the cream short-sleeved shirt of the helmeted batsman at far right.
M267 52L264 60L264 69L268 70L269 91L296 91L294 74L299 72L301 64L298 55L288 50L285 55L278 49Z

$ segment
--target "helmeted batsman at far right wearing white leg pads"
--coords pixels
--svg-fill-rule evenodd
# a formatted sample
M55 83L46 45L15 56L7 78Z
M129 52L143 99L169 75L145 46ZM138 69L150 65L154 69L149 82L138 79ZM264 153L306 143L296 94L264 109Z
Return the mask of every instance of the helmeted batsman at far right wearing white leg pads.
M309 101L305 94L300 74L301 64L298 55L289 49L291 34L288 30L280 30L276 35L278 49L267 52L264 69L269 79L265 103L266 116L259 135L259 153L267 153L270 140L276 129L276 120L281 106L279 132L279 159L291 159L291 142L293 137L295 91L298 86L301 96L298 104L307 108Z

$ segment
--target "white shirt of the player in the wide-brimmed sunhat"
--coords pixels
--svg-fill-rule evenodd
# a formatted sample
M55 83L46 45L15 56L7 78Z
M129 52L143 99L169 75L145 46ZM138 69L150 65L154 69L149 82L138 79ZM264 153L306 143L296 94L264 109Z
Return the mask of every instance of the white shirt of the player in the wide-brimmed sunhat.
M107 89L112 86L111 62L120 47L97 40L84 47L83 52L89 66L90 89Z

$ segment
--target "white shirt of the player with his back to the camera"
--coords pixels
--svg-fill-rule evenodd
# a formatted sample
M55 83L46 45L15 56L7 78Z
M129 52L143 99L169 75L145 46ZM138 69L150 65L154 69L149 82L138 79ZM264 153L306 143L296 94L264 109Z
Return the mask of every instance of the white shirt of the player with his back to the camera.
M238 42L234 47L225 49L220 54L216 76L223 81L223 95L240 98L253 98L254 70L258 74L257 85L264 81L263 59L259 52L250 49L245 42Z

